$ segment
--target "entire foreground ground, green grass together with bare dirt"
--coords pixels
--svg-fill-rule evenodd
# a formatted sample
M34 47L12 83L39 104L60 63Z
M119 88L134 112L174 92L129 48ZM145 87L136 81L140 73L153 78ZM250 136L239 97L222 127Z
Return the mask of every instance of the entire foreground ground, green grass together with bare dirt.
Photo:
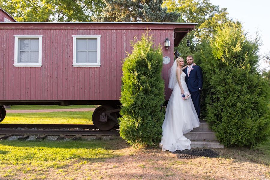
M218 158L177 159L123 140L0 141L0 179L269 179L269 142L259 150L214 149Z

